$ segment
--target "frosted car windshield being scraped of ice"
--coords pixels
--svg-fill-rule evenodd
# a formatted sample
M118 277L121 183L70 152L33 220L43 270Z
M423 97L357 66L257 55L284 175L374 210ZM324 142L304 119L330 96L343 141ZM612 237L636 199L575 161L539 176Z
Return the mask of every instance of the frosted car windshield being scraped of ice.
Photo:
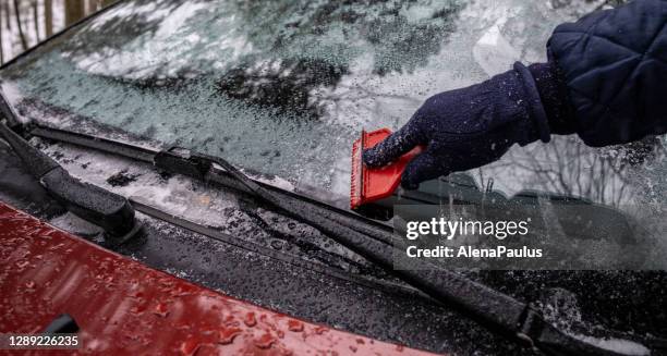
M517 60L544 61L557 24L603 4L126 1L0 76L25 119L63 126L85 118L344 201L351 144L362 128L396 130L430 95ZM577 137L554 137L513 147L464 180L505 196L527 189L616 207L636 198L660 205L659 147L662 138L591 149Z

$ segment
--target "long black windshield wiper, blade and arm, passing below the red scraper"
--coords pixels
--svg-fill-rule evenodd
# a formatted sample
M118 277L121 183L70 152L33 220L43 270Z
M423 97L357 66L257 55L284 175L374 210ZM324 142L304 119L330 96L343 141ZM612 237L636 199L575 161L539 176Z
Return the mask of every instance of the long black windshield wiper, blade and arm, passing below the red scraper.
M519 302L459 273L434 269L429 263L419 260L416 263L423 266L416 266L413 270L395 270L392 248L400 246L400 242L385 225L364 224L362 221L367 221L364 218L353 218L298 194L256 182L221 158L180 147L147 150L143 147L52 127L38 126L31 133L141 159L151 162L158 169L186 174L251 194L286 216L318 229L436 302L453 307L490 330L547 355L631 355L609 351L587 341L595 340L593 337L570 335L547 322L533 305ZM223 174L216 164L223 169ZM652 340L651 343L655 344L656 348L664 348L659 340Z

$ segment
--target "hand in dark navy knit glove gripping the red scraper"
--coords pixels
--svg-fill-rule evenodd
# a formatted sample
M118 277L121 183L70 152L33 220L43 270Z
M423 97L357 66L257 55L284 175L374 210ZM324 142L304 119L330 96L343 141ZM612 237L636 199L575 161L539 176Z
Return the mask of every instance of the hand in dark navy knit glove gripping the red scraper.
M550 77L548 65L544 69ZM546 112L535 78L516 63L481 84L430 97L403 127L365 150L363 160L381 167L425 145L401 179L404 188L415 189L421 182L490 163L513 144L538 138L549 140Z

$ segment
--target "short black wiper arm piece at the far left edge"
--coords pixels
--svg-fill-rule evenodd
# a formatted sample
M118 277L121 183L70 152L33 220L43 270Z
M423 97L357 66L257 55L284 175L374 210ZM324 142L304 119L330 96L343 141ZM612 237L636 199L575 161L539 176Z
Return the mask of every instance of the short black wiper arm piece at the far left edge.
M17 122L14 109L1 91L0 108L9 120ZM0 122L0 138L12 147L33 176L56 200L70 212L102 228L110 242L124 242L138 231L134 209L128 199L73 177L3 122Z

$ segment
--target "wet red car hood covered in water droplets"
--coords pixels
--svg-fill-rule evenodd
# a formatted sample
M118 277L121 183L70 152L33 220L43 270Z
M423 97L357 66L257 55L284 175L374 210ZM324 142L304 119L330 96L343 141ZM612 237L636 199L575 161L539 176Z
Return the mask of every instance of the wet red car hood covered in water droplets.
M231 298L0 202L0 333L38 332L62 312L86 354L427 355Z

